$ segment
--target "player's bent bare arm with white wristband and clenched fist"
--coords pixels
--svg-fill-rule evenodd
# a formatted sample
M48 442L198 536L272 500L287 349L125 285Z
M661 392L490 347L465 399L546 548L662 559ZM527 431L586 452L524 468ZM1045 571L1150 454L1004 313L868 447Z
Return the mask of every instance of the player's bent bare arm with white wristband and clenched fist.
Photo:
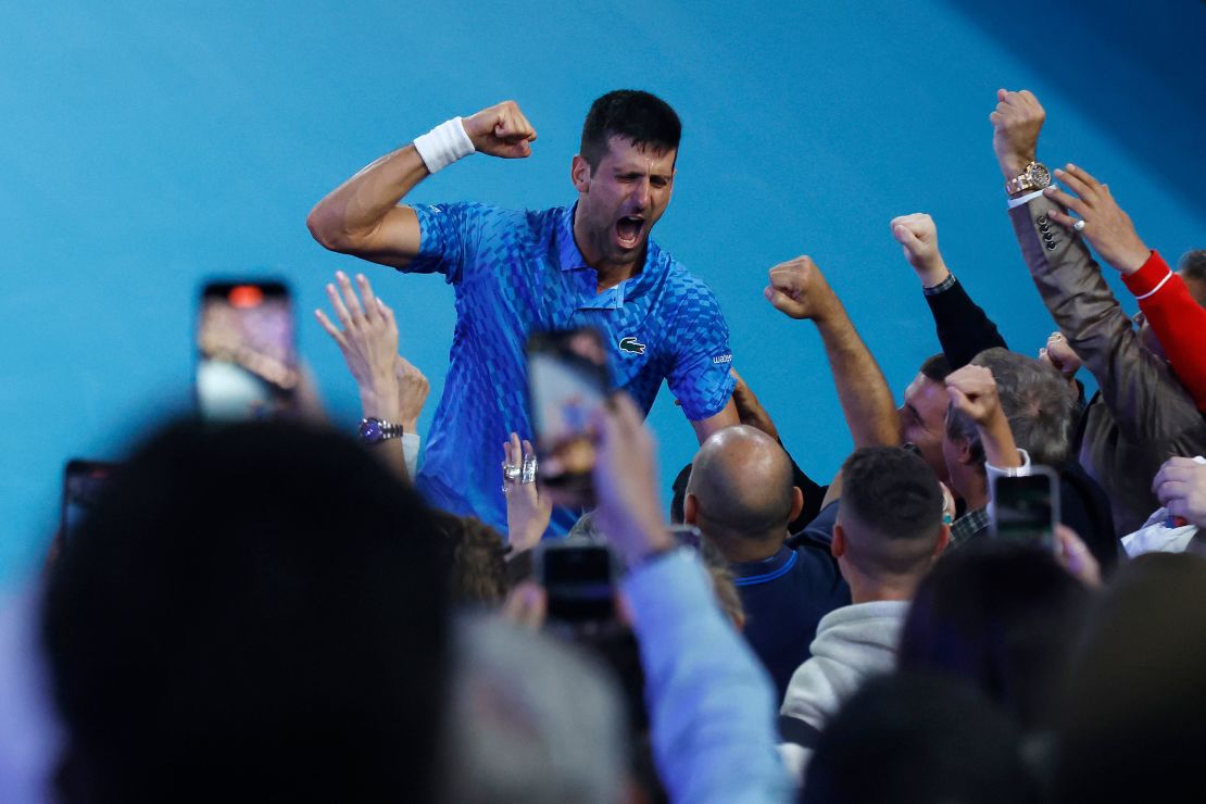
M418 254L421 231L415 212L398 204L418 182L475 151L527 157L534 140L535 129L514 101L455 117L336 187L310 211L306 227L330 251L405 268Z

